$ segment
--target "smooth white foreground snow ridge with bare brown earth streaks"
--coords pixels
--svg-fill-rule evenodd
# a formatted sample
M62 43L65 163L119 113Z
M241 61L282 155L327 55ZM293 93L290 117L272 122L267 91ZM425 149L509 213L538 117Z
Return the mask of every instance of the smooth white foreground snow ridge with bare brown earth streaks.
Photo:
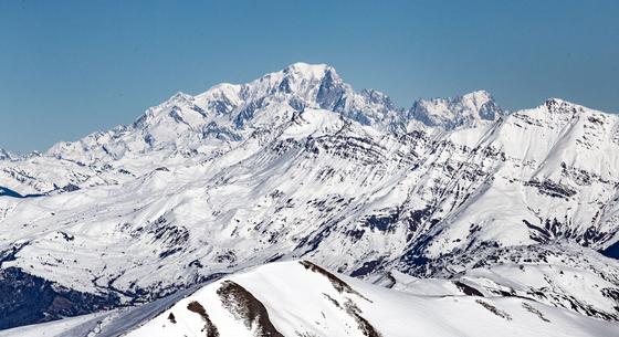
M129 323L122 314L104 318L88 336L105 336L114 319ZM617 328L522 297L457 292L410 295L295 261L271 263L206 285L123 336L576 337L618 336ZM44 330L53 329L43 325L9 333L25 337ZM73 331L65 336L88 334Z

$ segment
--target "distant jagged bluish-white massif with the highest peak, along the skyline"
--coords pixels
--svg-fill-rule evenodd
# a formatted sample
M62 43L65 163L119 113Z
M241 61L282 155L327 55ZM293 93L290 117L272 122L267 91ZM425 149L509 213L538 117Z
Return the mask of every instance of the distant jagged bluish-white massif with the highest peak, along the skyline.
M354 91L332 66L295 63L246 84L219 84L196 96L177 93L130 126L59 143L48 155L93 164L150 150L200 152L221 143L245 140L255 130L279 126L305 108L402 131L411 120L449 130L493 122L505 114L486 92L422 99L407 110L396 107L384 93Z

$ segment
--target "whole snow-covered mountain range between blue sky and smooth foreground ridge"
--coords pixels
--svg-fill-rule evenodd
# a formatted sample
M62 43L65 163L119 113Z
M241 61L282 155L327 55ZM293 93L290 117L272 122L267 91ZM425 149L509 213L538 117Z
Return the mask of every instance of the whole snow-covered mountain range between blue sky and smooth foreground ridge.
M617 320L619 265L596 251L619 239L618 170L619 117L556 98L405 109L308 64L179 93L129 126L0 158L0 285L15 294L0 328L301 257Z

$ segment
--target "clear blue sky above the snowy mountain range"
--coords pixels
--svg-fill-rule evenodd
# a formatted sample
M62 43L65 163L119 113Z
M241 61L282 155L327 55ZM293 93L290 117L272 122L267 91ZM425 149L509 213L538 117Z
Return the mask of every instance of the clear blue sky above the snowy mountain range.
M484 88L512 109L619 112L619 1L0 1L0 147L45 150L297 61L400 106Z

